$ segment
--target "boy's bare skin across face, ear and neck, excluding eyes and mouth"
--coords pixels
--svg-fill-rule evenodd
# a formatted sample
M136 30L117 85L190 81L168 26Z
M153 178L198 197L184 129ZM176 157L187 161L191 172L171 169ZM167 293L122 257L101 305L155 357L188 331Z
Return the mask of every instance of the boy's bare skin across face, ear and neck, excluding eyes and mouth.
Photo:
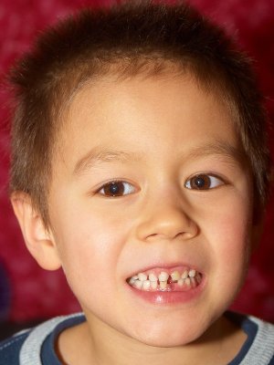
M49 232L26 195L12 199L31 254L47 269L62 266L88 320L59 337L63 363L216 365L236 356L246 335L223 313L256 240L253 187L247 163L208 145L241 151L226 105L187 75L105 77L72 101ZM91 159L101 151L114 153ZM201 172L215 176L213 188L187 188ZM130 193L104 195L113 180ZM143 267L185 262L204 276L188 302L155 305L126 283Z

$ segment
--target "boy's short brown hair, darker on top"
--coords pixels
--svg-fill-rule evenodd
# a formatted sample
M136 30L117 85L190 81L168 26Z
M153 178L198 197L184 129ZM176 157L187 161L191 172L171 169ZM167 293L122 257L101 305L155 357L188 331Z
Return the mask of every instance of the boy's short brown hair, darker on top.
M222 29L182 3L86 8L38 37L10 74L16 95L10 191L28 193L47 225L58 121L71 95L111 65L120 65L120 72L129 75L148 66L160 72L170 61L230 99L263 207L270 159L266 116L251 63Z

